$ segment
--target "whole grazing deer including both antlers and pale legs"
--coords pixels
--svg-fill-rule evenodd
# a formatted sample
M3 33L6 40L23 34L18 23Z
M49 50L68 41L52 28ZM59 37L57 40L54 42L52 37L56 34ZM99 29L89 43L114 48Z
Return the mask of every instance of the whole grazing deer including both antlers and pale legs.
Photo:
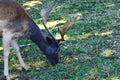
M17 40L19 40L19 37L21 36L28 37L31 41L33 41L38 48L43 51L51 65L54 66L59 62L58 53L61 45L60 41L65 40L64 35L78 20L79 16L74 14L72 19L70 18L70 20L63 25L62 29L58 28L58 32L60 33L62 39L57 40L46 26L49 14L54 8L55 6L49 6L48 8L43 8L39 12L43 20L43 25L49 34L48 36L45 31L38 27L32 18L30 18L26 13L24 8L15 0L0 0L0 36L2 36L4 49L4 76L7 80L10 80L8 58L10 55L9 48L11 46L17 54L21 67L26 71L29 70L22 59L20 48L17 43Z

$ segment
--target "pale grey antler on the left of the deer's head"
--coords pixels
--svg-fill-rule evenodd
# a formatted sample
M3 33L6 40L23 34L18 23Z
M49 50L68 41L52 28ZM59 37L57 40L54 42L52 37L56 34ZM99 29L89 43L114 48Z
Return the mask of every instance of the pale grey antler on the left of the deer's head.
M47 32L49 33L49 35L54 38L54 36L52 35L52 33L49 31L49 29L46 26L47 19L49 17L49 14L50 14L51 10L53 10L53 8L54 8L54 6L49 6L48 8L43 8L40 11L40 15L42 17L43 25L44 25L45 29L47 30Z

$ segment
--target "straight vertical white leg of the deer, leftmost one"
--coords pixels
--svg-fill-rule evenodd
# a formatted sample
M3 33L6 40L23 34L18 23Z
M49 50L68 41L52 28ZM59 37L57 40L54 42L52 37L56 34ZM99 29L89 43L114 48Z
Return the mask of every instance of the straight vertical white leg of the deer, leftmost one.
M3 48L4 48L4 75L7 80L10 80L9 71L8 71L8 57L10 54L10 42L13 35L11 32L6 30L3 31Z

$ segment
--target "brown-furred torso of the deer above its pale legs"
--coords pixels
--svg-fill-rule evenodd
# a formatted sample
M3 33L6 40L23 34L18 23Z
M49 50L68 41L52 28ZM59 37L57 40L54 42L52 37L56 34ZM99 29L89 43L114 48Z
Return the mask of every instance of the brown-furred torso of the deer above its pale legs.
M28 29L30 18L24 9L13 0L0 0L0 21L6 21L0 31L9 29L11 32L24 33Z

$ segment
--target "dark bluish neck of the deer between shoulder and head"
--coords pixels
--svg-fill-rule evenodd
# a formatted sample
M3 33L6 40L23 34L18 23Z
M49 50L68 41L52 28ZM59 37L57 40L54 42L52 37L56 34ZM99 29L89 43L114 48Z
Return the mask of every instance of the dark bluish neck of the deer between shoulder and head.
M47 42L45 40L45 36L43 35L42 30L35 24L34 21L29 21L29 37L30 39L38 45L39 49L45 51L47 48Z

